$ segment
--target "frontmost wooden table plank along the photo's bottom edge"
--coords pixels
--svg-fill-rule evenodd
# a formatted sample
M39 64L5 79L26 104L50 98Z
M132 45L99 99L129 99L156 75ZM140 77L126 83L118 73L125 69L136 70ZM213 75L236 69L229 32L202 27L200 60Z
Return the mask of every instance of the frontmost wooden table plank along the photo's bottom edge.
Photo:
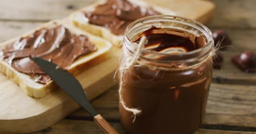
M120 134L126 134L120 123L110 123ZM75 121L64 119L48 129L33 134L104 134L93 121ZM194 134L256 134L246 131L224 131L199 129Z

